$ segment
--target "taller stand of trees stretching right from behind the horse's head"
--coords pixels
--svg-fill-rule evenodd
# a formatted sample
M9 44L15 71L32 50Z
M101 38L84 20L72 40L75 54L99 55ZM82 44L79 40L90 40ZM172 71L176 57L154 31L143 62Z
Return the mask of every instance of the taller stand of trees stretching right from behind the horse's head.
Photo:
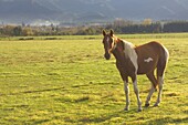
M167 33L167 32L188 32L188 21L157 21L145 19L142 23L132 21L116 20L108 24L107 29L114 29L118 33Z

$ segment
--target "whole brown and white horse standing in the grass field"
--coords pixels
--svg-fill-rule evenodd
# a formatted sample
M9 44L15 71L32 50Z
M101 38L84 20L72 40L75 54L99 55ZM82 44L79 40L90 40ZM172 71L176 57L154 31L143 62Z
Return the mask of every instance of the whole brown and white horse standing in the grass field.
M111 30L109 33L106 33L103 30L103 44L105 50L104 58L106 60L109 60L111 53L113 53L116 59L116 66L124 81L124 91L126 95L125 111L128 111L129 108L128 76L133 81L134 92L137 97L138 112L142 111L142 102L137 87L137 74L146 74L152 82L152 87L146 98L146 107L149 106L150 97L155 92L156 86L158 85L158 97L157 102L154 105L158 106L161 100L164 73L169 56L168 50L164 45L155 41L135 46L130 42L116 38L113 30ZM157 69L157 76L154 75L155 69Z

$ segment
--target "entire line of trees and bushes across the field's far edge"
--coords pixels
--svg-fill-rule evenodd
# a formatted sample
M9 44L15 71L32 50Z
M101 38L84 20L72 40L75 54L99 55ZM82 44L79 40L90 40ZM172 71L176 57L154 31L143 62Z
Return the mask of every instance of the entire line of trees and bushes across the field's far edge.
M69 27L61 25L0 25L0 37L28 35L93 35L101 34L102 29L113 29L116 33L166 33L188 32L188 21L157 21L145 19L143 22L115 20L113 23L98 25Z

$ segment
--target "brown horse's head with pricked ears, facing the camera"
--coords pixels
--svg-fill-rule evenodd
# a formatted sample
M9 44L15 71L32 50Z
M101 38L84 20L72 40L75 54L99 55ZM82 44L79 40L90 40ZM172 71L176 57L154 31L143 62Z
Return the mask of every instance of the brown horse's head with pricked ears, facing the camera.
M111 59L111 53L113 52L113 50L115 49L115 37L114 37L114 31L111 30L109 33L106 33L105 30L103 30L103 44L104 44L104 50L105 50L105 54L104 58L106 60Z

